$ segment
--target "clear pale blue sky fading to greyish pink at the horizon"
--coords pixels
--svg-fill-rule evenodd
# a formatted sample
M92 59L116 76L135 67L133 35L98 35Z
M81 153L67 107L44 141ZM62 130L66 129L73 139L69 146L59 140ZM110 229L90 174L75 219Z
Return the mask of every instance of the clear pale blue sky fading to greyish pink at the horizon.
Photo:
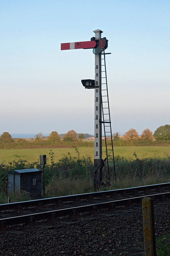
M169 0L0 0L0 134L94 134L93 49L61 43L108 39L112 132L170 124Z

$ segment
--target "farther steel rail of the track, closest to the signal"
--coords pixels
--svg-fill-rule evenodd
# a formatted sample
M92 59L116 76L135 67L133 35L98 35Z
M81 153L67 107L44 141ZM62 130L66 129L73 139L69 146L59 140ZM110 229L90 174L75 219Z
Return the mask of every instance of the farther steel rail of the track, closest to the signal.
M23 201L23 202L16 202L10 204L0 204L0 211L12 210L17 208L26 208L26 207L33 207L39 205L46 205L46 204L56 204L59 202L67 202L67 201L76 201L81 199L90 199L93 197L107 197L113 194L122 194L132 191L141 191L147 189L155 189L157 187L170 188L170 183L160 183L155 185L147 185L142 187L132 187L132 188L124 188L124 189L117 189L117 190L107 190L101 192L94 192L94 193L87 193L87 194L77 194L77 195L70 195L70 196L62 196L62 197L52 197L52 198L44 198L44 199L37 199L37 200L30 200L30 201Z

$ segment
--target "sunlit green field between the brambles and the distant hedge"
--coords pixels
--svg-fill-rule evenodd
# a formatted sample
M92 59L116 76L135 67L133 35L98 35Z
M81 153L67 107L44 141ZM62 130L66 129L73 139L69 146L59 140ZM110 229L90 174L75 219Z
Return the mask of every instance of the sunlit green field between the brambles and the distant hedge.
M67 155L68 152L72 156L76 156L77 153L73 148L53 148L54 152L54 162L57 162L63 155ZM94 157L94 148L80 147L78 148L80 157L91 156ZM103 147L103 158L105 158L106 149ZM23 160L28 160L29 162L39 161L39 155L46 155L47 160L50 160L48 148L35 148L35 149L0 149L0 164L5 161L5 163L11 162L13 160L18 160L16 155L18 155ZM164 153L170 155L169 146L155 146L155 147L114 147L114 155L124 156L125 158L132 158L134 152L138 158L164 158Z

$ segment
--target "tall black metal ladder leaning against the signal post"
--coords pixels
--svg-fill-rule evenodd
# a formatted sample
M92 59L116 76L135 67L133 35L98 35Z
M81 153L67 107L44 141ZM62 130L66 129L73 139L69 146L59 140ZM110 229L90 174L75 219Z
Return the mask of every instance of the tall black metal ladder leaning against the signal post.
M102 114L103 114L103 121L101 122L104 125L108 179L110 183L109 169L112 169L112 174L114 173L115 181L116 181L116 170L115 170L115 163L114 163L113 139L112 139L112 132L111 132L109 97L108 97L108 89L107 89L106 60L105 60L106 54L108 53L105 53L104 51L103 53L101 53L102 55L101 56L101 98L102 98ZM108 159L108 157L110 157L110 160ZM114 169L114 172L113 172L113 169Z

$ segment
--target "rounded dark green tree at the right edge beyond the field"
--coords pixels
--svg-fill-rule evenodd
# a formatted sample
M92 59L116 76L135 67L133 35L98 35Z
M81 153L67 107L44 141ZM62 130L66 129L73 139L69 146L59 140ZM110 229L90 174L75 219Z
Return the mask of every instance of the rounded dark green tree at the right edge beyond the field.
M165 124L163 126L159 126L154 132L154 137L158 141L166 141L170 142L170 125Z

